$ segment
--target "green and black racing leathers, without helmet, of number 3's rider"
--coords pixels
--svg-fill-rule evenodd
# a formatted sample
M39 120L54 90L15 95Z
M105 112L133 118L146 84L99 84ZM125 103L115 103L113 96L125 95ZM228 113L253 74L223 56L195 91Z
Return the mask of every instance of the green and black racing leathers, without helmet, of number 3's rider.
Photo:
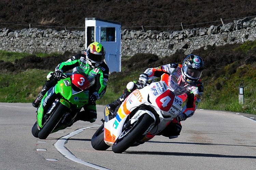
M84 68L86 74L95 77L95 84L89 89L89 103L83 106L84 111L79 112L79 114L77 114L76 116L76 121L83 120L94 122L97 118L95 102L96 100L103 97L106 91L106 84L109 77L109 67L106 65L105 62L103 62L99 65L99 67L91 68L89 64L85 62L85 58L85 54L74 55L68 61L60 63L55 68L55 73L66 72L76 66L81 66ZM58 82L58 79L56 77L58 76L54 75L47 79L45 85L43 86L43 89L45 88L45 92Z

